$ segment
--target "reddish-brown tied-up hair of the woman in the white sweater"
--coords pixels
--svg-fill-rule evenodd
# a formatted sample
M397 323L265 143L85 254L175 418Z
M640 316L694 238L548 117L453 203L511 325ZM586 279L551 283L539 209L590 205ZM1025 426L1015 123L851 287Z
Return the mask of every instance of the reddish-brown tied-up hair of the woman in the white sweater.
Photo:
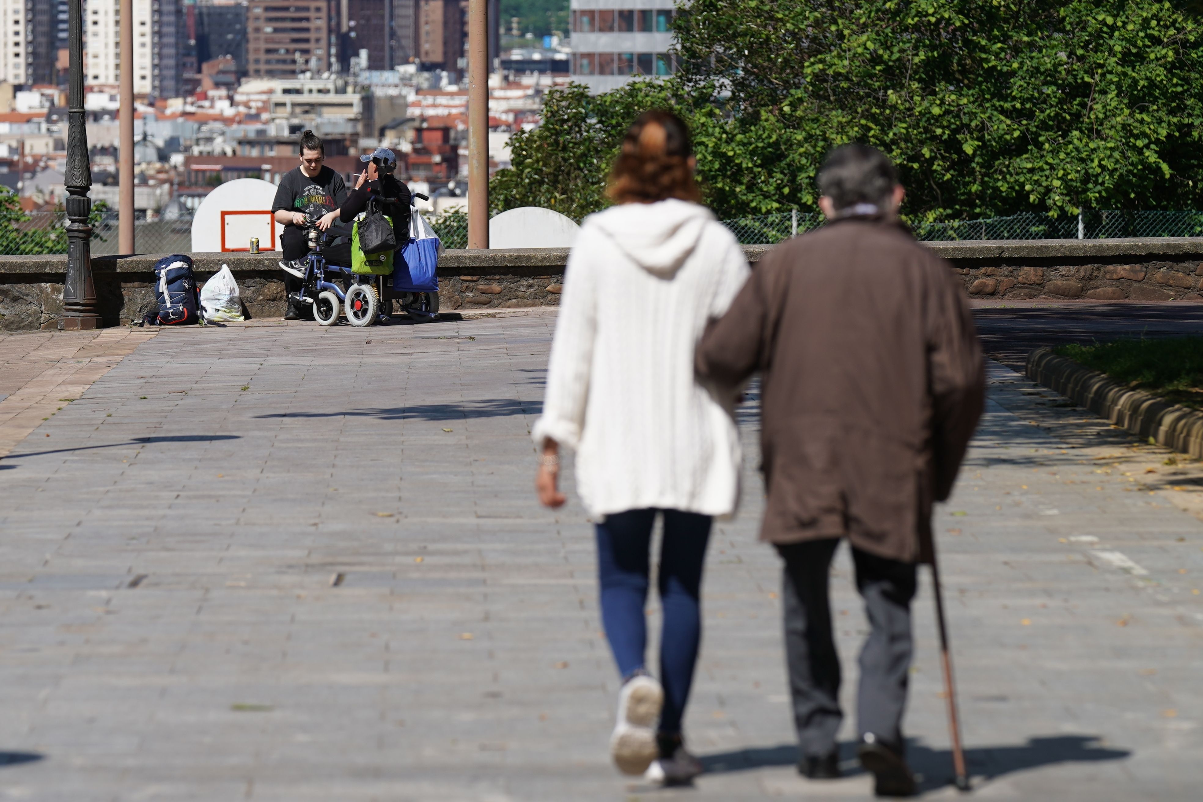
M622 141L606 195L615 203L654 203L670 197L700 203L692 155L685 120L672 112L644 112Z

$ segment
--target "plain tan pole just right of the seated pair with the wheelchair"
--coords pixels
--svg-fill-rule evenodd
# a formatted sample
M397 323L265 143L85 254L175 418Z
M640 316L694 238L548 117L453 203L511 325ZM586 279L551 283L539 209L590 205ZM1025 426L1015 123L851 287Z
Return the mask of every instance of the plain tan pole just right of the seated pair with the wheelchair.
M488 248L488 0L468 0L468 248Z

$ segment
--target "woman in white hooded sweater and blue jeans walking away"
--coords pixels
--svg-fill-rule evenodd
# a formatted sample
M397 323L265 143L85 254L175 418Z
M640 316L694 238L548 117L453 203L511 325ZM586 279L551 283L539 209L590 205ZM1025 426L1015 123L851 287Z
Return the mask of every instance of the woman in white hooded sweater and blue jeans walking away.
M700 204L688 131L641 115L609 195L568 259L547 369L537 489L547 506L559 446L576 450L576 486L597 524L602 619L623 679L610 749L628 774L681 783L701 771L681 719L701 636L699 590L711 519L735 510L740 446L731 399L694 379L694 349L748 275L743 253ZM647 671L644 605L650 542L664 518L658 586L659 682ZM662 684L663 683L663 684Z

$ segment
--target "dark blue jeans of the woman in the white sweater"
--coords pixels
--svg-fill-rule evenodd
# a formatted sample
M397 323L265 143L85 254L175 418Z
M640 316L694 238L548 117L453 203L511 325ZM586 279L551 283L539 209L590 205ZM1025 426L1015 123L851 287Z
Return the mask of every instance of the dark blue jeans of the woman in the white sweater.
M693 667L701 642L701 569L711 517L678 510L628 510L597 524L602 623L626 679L644 669L647 646L648 551L656 513L664 513L658 587L664 624L660 632L660 683L664 709L659 731L681 731Z

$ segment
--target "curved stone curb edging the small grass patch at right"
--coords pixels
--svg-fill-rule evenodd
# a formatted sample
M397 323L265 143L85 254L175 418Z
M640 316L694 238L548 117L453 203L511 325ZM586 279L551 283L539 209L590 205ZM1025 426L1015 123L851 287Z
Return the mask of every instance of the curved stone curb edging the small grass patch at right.
M1130 390L1104 373L1057 356L1051 347L1027 355L1027 378L1054 390L1115 426L1157 444L1203 457L1203 412Z

